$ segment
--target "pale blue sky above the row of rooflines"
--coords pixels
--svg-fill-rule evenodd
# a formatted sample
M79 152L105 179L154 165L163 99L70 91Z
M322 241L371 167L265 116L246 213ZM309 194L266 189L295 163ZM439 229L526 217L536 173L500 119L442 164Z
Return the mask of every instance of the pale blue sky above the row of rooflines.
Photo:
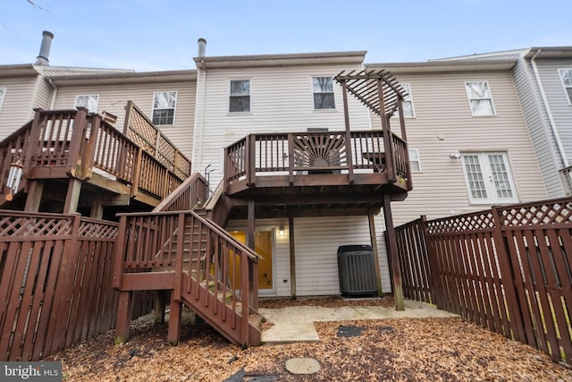
M366 63L572 46L572 0L0 0L0 64L194 69L206 55L366 50Z

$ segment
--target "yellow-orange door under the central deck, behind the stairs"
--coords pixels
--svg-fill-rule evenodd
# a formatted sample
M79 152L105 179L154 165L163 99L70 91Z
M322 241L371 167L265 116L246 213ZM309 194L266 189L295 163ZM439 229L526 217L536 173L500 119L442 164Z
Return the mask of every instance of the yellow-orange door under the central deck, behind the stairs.
M244 231L232 231L231 235L243 244L247 241ZM254 247L257 254L264 258L258 260L258 294L273 295L273 231L256 231Z

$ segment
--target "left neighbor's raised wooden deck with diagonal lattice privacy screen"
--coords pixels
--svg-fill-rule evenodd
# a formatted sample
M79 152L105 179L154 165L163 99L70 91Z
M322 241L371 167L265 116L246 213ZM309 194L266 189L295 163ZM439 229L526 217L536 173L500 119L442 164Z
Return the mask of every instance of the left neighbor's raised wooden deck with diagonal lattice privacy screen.
M6 179L18 160L24 166L22 180L18 190L10 191ZM85 108L37 110L33 121L0 142L2 202L27 194L20 208L32 212L50 198L63 205L50 212L132 201L152 209L189 175L189 159L132 103L123 132ZM94 200L98 206L90 204Z

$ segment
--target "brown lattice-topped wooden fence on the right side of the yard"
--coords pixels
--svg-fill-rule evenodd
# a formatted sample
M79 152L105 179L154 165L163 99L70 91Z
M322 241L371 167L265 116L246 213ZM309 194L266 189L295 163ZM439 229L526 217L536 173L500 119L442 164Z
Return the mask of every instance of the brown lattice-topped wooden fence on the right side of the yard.
M405 296L572 365L572 199L397 227Z

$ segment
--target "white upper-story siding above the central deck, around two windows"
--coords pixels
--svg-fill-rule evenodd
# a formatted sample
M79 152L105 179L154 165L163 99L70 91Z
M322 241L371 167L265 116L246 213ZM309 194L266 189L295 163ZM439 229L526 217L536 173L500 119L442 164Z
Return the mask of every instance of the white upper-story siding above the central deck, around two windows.
M343 131L341 87L334 83L334 110L316 111L312 77L334 76L344 69L347 67L332 65L199 71L199 82L206 77L206 89L198 89L204 115L197 117L194 170L211 165L211 184L216 186L223 175L223 148L252 132L306 132L307 128ZM249 113L229 113L231 80L250 80ZM368 130L366 107L351 97L349 107L351 129Z

